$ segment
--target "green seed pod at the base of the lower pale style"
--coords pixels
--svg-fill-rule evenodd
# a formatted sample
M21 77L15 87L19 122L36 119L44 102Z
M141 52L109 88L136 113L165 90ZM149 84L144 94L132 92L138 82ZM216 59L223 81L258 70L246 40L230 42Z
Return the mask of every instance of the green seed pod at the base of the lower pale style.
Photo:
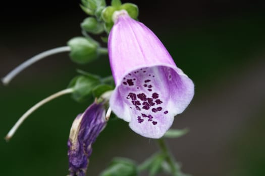
M70 81L69 87L72 87L74 90L72 94L73 99L77 102L82 102L92 95L92 90L98 84L100 84L98 76L81 75L74 77Z

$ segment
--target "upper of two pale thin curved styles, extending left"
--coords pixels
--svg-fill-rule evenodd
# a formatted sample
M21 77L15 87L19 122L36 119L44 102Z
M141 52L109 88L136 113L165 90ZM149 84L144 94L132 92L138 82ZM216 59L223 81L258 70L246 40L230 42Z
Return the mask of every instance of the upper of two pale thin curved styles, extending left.
M53 54L66 51L71 51L71 48L69 46L62 46L39 53L20 64L15 69L13 69L10 73L8 73L5 77L2 78L2 82L4 83L4 85L7 85L18 73L20 73L22 70L32 65L33 63L37 62L38 60Z

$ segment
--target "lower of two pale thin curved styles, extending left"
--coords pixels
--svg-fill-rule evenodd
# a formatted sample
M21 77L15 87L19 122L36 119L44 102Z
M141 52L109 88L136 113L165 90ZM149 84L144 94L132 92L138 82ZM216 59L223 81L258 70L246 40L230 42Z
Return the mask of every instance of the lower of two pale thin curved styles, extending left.
M17 129L20 127L20 125L24 122L24 120L26 120L26 118L32 114L36 109L38 109L39 107L41 107L42 105L44 105L45 103L60 97L62 95L65 94L70 94L73 92L73 89L65 89L63 91L60 91L58 93L55 93L45 99L43 99L42 101L40 101L39 103L37 103L36 105L34 105L33 107L31 107L25 114L23 114L23 116L21 116L21 118L16 122L16 124L11 128L11 130L8 132L7 136L5 137L5 139L7 141L9 141L12 136L15 134L15 132L17 131Z

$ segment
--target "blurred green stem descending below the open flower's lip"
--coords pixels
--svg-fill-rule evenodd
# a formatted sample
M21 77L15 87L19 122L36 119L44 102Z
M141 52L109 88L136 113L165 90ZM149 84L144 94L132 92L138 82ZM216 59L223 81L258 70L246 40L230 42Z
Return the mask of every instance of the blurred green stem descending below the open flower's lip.
M172 155L172 153L169 151L169 149L165 143L165 140L163 138L160 138L157 140L157 143L158 143L160 149L162 150L162 152L166 155L166 161L168 162L168 164L171 168L172 175L179 176L179 169L177 168L177 166L175 164L176 163L175 158Z

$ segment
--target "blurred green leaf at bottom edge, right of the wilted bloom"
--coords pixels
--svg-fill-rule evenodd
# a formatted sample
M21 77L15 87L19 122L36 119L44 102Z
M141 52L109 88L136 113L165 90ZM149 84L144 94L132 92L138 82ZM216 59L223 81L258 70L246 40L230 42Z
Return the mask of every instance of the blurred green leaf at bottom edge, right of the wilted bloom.
M114 158L110 165L100 173L100 176L136 176L136 163L127 158Z

